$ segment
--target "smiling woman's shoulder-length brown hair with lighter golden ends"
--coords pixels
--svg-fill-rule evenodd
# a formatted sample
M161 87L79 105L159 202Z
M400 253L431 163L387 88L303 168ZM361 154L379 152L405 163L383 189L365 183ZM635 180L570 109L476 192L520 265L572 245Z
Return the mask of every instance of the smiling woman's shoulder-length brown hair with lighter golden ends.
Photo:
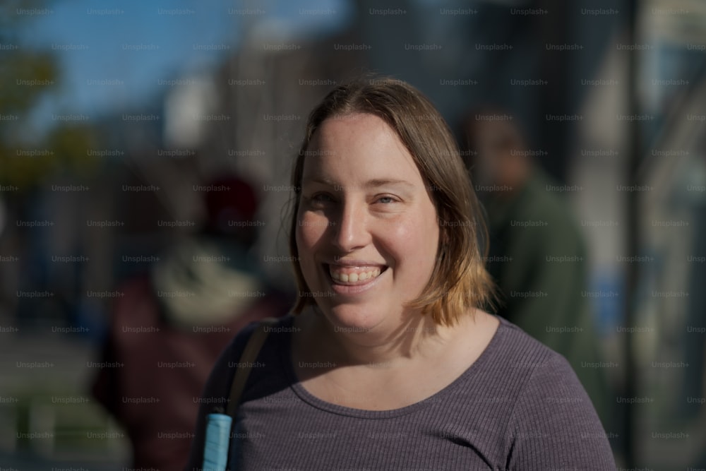
M361 78L338 85L309 114L304 142L294 162L294 210L289 251L299 287L293 312L315 301L299 266L295 239L304 157L319 126L331 117L373 114L385 121L412 155L436 208L439 225L437 263L421 294L408 307L431 314L438 324L453 325L469 308L489 305L493 283L484 267L480 240L486 227L468 173L448 125L428 98L408 83L393 78ZM482 236L482 239L481 237Z

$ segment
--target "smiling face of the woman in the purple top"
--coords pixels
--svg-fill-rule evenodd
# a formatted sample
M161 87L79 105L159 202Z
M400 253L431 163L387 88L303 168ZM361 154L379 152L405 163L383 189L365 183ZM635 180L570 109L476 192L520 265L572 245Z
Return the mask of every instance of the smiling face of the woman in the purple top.
M400 326L402 304L429 282L438 239L417 165L385 121L323 121L304 160L296 240L306 284L335 328Z

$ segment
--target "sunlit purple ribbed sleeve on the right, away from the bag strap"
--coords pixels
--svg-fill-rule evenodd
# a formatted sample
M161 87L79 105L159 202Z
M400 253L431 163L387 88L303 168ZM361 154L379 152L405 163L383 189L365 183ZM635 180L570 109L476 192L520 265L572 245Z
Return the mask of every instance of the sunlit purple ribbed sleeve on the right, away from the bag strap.
M610 443L566 359L534 366L510 417L508 470L615 470Z

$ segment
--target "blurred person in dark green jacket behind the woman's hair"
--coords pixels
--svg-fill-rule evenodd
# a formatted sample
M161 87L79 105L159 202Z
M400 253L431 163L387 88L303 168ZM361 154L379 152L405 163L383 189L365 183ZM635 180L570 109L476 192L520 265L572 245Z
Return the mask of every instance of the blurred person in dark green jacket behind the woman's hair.
M563 186L534 164L512 115L486 109L463 124L464 158L484 208L486 266L498 285L497 314L562 354L611 429L611 395L588 287L587 251Z

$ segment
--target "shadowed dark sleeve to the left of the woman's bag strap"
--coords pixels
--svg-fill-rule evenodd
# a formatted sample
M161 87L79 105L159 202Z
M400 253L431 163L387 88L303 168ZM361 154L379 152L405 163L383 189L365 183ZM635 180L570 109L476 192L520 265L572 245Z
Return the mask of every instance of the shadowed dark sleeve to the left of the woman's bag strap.
M208 381L206 381L206 386L201 394L201 405L198 407L196 430L193 431L191 439L189 461L186 463L184 471L201 471L203 468L206 416L219 406L223 407L225 411L230 395L230 386L237 370L237 366L233 365L237 364L240 359L245 344L256 325L255 322L250 323L233 338L218 357L210 376L208 376Z

